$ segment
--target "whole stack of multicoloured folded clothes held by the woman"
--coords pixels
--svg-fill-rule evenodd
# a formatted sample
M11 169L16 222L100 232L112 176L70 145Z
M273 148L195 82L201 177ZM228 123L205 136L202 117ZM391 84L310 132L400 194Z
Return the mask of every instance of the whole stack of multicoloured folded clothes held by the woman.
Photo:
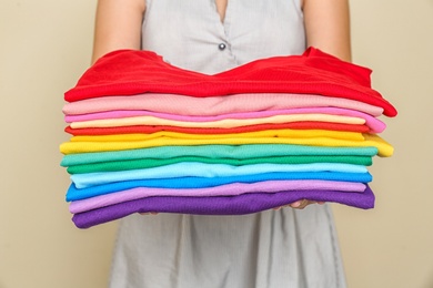
M214 75L111 52L64 94L72 220L242 215L299 199L372 208L367 166L393 153L379 116L396 110L370 74L314 48Z

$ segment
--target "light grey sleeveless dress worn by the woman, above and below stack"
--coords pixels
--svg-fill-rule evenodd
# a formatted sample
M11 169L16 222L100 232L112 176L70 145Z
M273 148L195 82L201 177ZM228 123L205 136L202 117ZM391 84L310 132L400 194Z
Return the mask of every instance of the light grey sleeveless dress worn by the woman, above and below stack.
M147 0L142 49L213 74L305 50L300 0ZM345 287L329 205L243 216L131 215L120 222L110 287Z

